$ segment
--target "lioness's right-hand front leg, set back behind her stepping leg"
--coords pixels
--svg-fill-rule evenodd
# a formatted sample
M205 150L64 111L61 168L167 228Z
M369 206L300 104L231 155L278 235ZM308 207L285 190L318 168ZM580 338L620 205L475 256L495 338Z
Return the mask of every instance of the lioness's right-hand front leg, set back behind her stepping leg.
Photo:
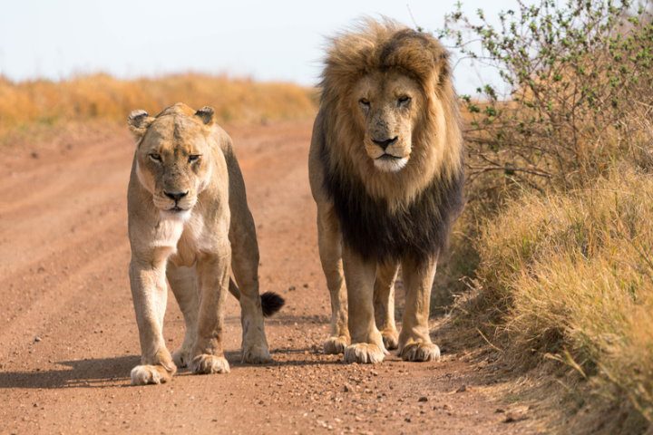
M230 257L230 248L223 247L218 252L203 254L197 262L200 312L197 339L190 353L190 370L193 373L229 372L229 362L222 348L222 333L224 304L229 291Z

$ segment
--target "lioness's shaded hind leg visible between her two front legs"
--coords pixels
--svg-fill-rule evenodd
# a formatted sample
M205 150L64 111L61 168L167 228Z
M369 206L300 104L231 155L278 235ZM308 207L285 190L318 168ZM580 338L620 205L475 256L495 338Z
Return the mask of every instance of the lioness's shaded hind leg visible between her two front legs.
M197 338L198 312L200 300L198 295L197 271L195 267L175 266L168 262L168 282L172 294L180 305L181 314L184 316L186 333L180 348L172 353L172 361L177 367L187 367L190 364L190 351Z

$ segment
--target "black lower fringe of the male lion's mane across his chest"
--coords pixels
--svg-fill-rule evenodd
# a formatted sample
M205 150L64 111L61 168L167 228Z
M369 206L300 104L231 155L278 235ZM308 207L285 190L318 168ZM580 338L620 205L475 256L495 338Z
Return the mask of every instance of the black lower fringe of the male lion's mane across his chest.
M320 157L324 187L334 201L343 243L365 259L423 261L446 247L453 221L463 208L463 171L434 178L413 202L394 211L383 198L372 198L353 174L332 170L325 141Z

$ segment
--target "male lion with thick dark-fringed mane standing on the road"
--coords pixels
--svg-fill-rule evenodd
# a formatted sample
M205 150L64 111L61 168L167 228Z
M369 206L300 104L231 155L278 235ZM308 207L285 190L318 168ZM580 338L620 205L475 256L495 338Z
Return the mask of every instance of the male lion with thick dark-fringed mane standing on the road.
M381 362L386 348L398 347L406 361L437 359L428 326L431 287L463 208L448 54L429 34L367 21L333 40L321 88L308 169L331 295L325 352ZM401 333L394 313L399 266Z

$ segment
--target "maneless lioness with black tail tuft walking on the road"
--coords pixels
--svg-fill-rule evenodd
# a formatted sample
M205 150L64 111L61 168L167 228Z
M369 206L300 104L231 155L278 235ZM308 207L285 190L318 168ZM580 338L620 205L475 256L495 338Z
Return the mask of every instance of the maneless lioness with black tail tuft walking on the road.
M195 373L229 372L222 350L228 289L242 310L243 361L268 362L263 315L278 311L283 299L258 296L256 230L229 135L210 107L193 111L182 103L154 118L132 111L129 125L138 143L127 199L142 353L132 384L167 382L187 364ZM162 335L166 277L186 323L172 356Z

